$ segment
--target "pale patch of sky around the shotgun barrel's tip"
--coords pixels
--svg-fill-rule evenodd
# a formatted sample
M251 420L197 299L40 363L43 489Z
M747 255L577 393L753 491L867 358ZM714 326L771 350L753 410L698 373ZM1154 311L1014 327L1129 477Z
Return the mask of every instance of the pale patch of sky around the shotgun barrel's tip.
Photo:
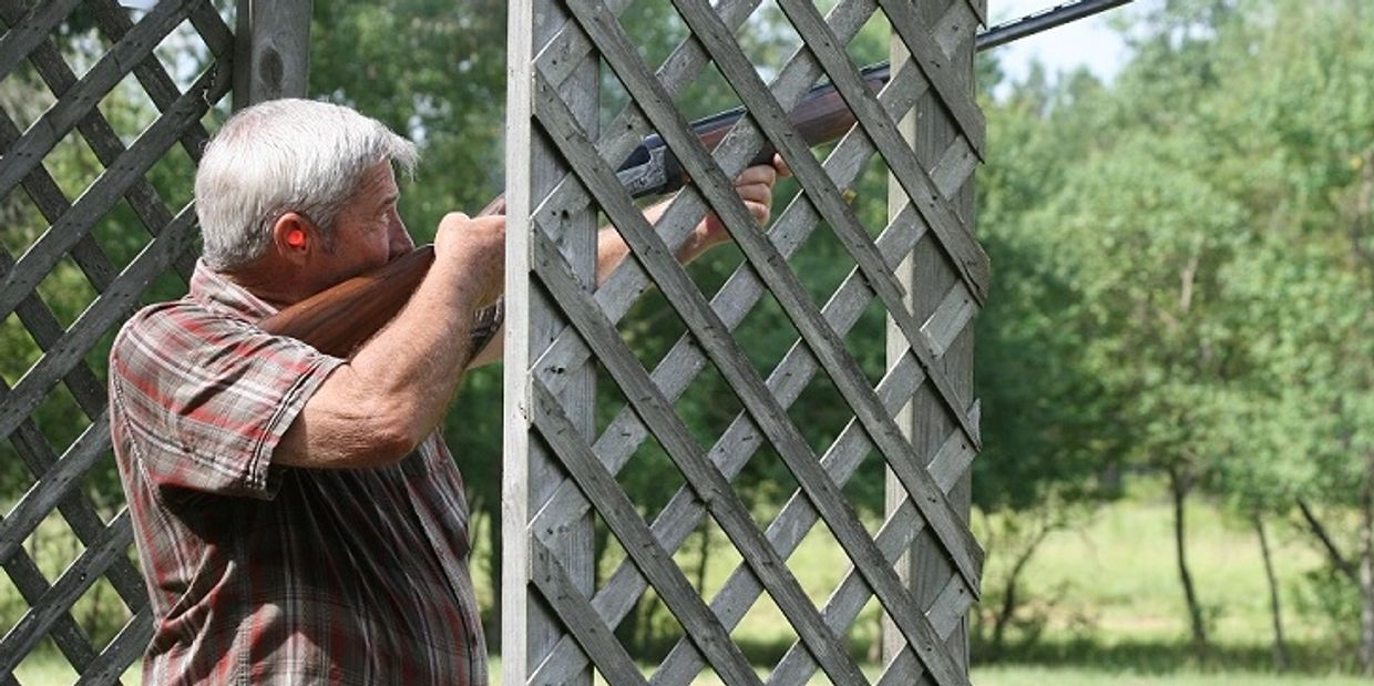
M1062 1L1062 0L1058 0ZM988 23L998 25L1018 16L1035 14L1058 4L1057 0L988 0ZM996 48L1002 67L1010 80L1021 80L1030 69L1030 62L1039 59L1051 74L1087 66L1103 81L1121 69L1125 59L1125 45L1121 37L1107 25L1107 16L1120 12L1138 12L1151 8L1164 0L1135 0L1135 3L1107 10L1106 12L1051 29L1029 38Z

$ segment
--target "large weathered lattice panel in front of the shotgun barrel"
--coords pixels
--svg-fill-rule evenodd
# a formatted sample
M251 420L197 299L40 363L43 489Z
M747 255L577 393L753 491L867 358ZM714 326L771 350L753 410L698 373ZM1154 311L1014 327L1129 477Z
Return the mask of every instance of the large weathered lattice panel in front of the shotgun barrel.
M511 11L513 65L528 70L517 71L511 84L508 302L511 330L530 334L507 346L507 397L521 412L510 414L507 425L504 674L513 682L569 683L595 667L611 683L644 682L614 628L653 590L683 630L654 671L655 683L690 683L708 667L727 683L758 683L731 631L764 593L797 635L769 671L769 683L804 683L816 670L835 683L867 683L844 646L846 630L871 598L893 634L881 683L967 683L960 628L978 595L982 551L956 491L980 441L967 349L988 278L970 202L984 146L971 88L973 36L984 7L966 0L849 0L822 16L809 0L779 0L805 47L765 84L734 37L758 1L712 7L673 0L691 38L657 73L618 21L631 4L526 1ZM845 47L879 11L904 52L890 82L874 95ZM603 133L585 88L569 88L577 74L595 71L598 60L632 100L600 126ZM713 151L695 139L676 102L708 66L752 114ZM785 113L823 77L859 124L822 162ZM904 136L899 122L912 113L921 120L919 136ZM694 179L654 225L614 175L651 131ZM731 179L764 142L789 162L801 194L760 232ZM870 164L889 170L897 199L888 224L874 231L844 194ZM598 210L632 257L594 289L577 235ZM673 258L706 212L723 219L745 256L709 298ZM818 231L833 232L853 263L823 307L787 261ZM905 276L912 268L922 271L915 282ZM617 327L650 286L662 291L687 329L653 371ZM767 374L756 368L747 341L732 335L765 297L800 334ZM874 304L894 333L886 373L877 382L845 340ZM624 397L599 433L588 430L587 408L567 396L569 384L585 384L592 364ZM710 444L698 441L675 410L705 371L723 378L742 407ZM818 374L851 417L824 450L809 445L787 414ZM686 484L646 520L617 474L649 439ZM760 527L731 481L764 445L798 488L774 521ZM900 488L875 535L842 492L866 458L883 461ZM709 604L673 561L708 516L742 560ZM625 554L595 586L576 535L569 538L594 520ZM818 524L853 565L822 608L786 562ZM919 580L911 573L918 566L925 575Z

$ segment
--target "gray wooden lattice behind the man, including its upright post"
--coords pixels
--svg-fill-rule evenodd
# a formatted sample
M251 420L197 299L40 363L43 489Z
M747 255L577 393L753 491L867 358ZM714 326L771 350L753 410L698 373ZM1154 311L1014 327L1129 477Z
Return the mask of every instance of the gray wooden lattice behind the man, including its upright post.
M0 312L5 318L15 315L43 349L12 388L0 385L0 434L10 439L33 477L29 491L0 520L0 565L29 604L19 621L0 637L0 683L14 683L14 668L45 638L52 639L82 683L117 681L143 653L153 624L143 580L129 561L128 510L121 507L106 521L81 491L82 478L102 461L111 461L104 381L87 356L140 304L154 279L169 271L184 279L194 267L194 208L169 206L146 180L148 170L177 146L192 162L199 161L209 140L201 120L229 93L231 84L238 84L236 99L242 103L305 93L309 1L258 1L257 12L253 1L240 1L238 40L209 0L164 0L137 14L114 0L88 1L87 15L110 47L80 77L49 38L77 4L0 0L5 29L0 37L0 74L10 78L27 63L34 87L45 88L52 98L52 104L25 125L8 113L0 114L0 198L19 202L14 194L23 194L47 224L19 257L0 250ZM209 59L184 91L154 54L179 26L199 34ZM265 71L234 69L235 52L253 54L250 36L258 40L258 54L271 43L276 55L275 60L254 60ZM96 106L131 74L159 114L125 144ZM43 161L73 136L84 142L104 170L69 199ZM121 203L132 209L137 228L146 232L143 247L122 267L93 235L95 227ZM63 324L37 291L66 260L96 293L70 324ZM80 436L67 445L54 445L32 418L63 392L59 385L85 419ZM52 513L62 517L84 550L49 580L25 542ZM93 645L71 615L99 579L109 582L129 612L124 628L106 645Z

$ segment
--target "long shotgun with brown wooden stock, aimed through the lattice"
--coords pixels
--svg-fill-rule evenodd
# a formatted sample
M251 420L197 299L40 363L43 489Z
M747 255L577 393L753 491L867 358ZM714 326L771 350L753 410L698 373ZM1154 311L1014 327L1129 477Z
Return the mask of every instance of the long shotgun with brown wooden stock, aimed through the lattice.
M974 49L980 52L991 49L1131 1L1063 3L980 33ZM888 82L890 67L888 63L872 65L864 67L861 76L864 85L877 93ZM702 144L712 150L743 115L745 109L736 107L694 121L692 131L701 137ZM793 109L789 120L809 146L835 140L855 124L853 113L831 84L812 88ZM772 158L772 146L764 146L750 165L771 164ZM677 158L657 133L644 137L635 147L616 176L635 198L673 192L688 181ZM478 216L504 213L506 198L502 195L482 208ZM371 274L354 276L316 293L258 324L268 333L298 338L324 353L345 357L401 311L433 263L433 246L418 247ZM474 353L486 345L500 324L499 312L491 308L478 312L475 318Z

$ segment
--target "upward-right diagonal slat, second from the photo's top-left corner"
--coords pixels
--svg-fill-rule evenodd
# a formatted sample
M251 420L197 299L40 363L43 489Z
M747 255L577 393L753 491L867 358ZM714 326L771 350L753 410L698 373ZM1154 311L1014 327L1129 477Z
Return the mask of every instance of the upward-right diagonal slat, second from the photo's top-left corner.
M136 23L133 30L91 67L91 71L62 93L58 102L5 151L5 165L0 168L0 195L14 190L21 179L41 164L43 155L52 150L78 121L87 118L100 99L133 70L158 41L181 23L195 1L199 0L158 3L148 16Z

